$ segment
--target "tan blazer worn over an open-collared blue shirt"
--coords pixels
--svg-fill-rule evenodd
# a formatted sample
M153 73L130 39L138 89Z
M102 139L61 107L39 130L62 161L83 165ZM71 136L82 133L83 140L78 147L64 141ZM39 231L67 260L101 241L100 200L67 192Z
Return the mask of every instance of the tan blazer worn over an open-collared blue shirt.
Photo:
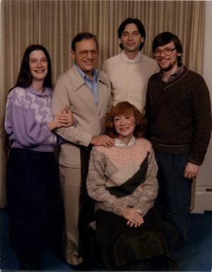
M76 67L71 67L57 79L52 94L53 112L56 114L64 106L69 106L76 120L76 125L55 131L69 141L59 149L59 164L80 167L78 145L87 147L93 135L103 134L105 113L111 103L110 93L110 81L102 71L98 71L98 104L95 103L92 91L86 86Z

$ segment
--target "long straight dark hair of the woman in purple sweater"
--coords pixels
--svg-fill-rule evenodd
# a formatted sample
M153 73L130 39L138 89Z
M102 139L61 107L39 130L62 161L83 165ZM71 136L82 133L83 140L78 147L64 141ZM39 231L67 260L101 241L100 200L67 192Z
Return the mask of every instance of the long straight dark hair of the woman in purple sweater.
M16 85L13 86L13 88L11 88L8 91L8 93L10 91L12 91L12 89L14 89L15 87L27 88L32 84L33 78L30 73L30 53L35 50L42 50L42 52L44 52L45 56L47 57L48 72L47 72L47 76L44 79L43 86L52 88L52 65L51 65L49 53L47 52L46 48L42 45L30 45L27 47L27 49L25 50L25 52L23 54L23 59L20 64L20 71L18 74L18 79L16 81ZM5 120L5 116L1 122L1 135L0 136L4 138L4 148L5 148L6 152L8 152L10 145L9 145L8 135L6 134L6 130L4 128L4 120Z

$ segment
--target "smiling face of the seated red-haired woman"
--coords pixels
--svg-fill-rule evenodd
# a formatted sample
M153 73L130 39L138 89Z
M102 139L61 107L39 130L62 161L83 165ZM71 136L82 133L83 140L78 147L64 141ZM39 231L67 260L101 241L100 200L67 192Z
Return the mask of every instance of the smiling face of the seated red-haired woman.
M113 123L119 140L127 144L131 140L136 127L136 118L133 111L114 116Z

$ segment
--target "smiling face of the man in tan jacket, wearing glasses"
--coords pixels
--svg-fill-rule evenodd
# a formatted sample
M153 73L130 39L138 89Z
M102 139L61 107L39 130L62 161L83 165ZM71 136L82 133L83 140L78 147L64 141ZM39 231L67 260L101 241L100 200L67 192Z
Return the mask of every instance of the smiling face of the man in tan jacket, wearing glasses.
M75 47L75 51L71 50L71 57L85 74L92 77L92 70L98 59L98 48L95 40L81 40L76 42Z

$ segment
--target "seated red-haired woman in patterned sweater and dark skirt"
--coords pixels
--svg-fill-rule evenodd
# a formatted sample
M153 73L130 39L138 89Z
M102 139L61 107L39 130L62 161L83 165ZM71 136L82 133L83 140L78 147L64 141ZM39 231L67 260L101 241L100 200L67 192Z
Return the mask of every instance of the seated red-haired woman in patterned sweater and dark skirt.
M114 147L93 147L87 189L96 211L97 242L107 270L168 268L177 231L153 209L158 166L143 138L146 120L120 102L106 115Z

